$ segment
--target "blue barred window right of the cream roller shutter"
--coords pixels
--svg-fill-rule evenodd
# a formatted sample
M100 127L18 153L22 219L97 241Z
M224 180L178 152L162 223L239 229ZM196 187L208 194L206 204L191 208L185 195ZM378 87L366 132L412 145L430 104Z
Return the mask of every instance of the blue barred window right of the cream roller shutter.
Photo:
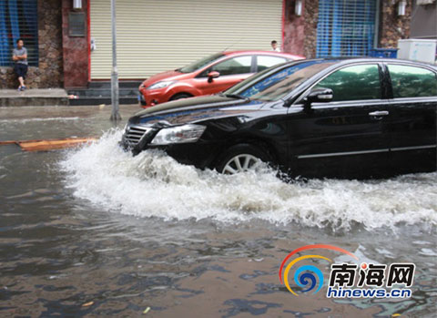
M320 0L317 56L368 56L376 15L377 0Z

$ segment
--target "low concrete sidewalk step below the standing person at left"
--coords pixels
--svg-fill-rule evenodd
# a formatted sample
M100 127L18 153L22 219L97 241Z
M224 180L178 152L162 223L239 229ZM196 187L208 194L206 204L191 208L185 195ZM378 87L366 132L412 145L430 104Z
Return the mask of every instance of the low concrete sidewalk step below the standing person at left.
M0 89L0 107L67 105L68 97L63 88Z

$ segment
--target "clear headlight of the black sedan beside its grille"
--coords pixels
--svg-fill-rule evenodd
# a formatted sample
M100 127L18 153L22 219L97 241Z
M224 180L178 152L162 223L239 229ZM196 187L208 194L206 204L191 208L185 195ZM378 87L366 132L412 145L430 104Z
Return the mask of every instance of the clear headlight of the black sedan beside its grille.
M202 136L205 129L205 126L195 124L162 128L150 144L158 146L196 142Z

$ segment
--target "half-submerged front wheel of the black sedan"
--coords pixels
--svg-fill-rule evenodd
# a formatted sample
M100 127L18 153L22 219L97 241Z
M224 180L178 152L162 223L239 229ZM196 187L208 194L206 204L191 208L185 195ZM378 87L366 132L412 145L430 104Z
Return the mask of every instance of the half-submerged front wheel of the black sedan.
M271 156L268 151L259 147L251 144L239 144L229 148L219 159L215 168L220 173L235 174L254 169L257 165L256 160L270 163ZM240 167L237 166L237 162L239 162Z

